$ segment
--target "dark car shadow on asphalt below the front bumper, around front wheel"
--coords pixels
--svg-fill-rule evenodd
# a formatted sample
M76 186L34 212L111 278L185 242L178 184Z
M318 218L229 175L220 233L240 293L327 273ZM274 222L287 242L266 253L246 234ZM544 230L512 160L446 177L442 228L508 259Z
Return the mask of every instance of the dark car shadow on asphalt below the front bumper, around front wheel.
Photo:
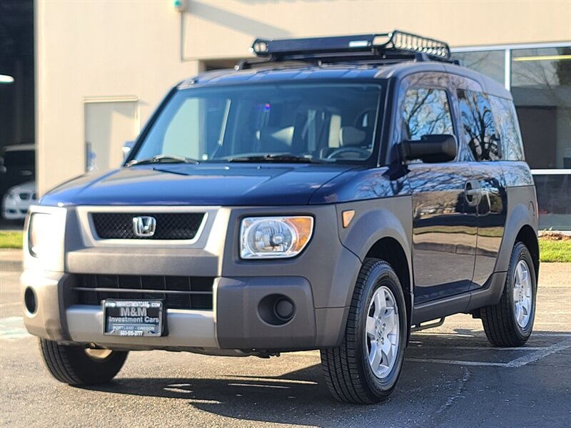
M374 416L379 408L402 412L410 400L421 400L438 371L419 373L408 365L397 390L387 401L358 405L360 415ZM461 374L460 374L461 375ZM110 384L85 389L111 394L186 400L188 405L223 417L246 421L312 426L343 426L355 417L355 404L335 401L328 392L320 365L304 367L278 377L227 375L217 378L117 378ZM388 407L387 407L388 406ZM333 413L332 413L333 412Z

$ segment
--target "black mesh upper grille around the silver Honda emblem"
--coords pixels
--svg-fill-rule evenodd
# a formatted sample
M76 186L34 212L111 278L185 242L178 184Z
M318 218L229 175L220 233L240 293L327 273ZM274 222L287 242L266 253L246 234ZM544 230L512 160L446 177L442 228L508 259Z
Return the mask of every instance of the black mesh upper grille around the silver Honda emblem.
M137 236L133 218L149 216L156 220L153 236ZM95 230L103 239L193 239L198 233L204 213L92 213Z

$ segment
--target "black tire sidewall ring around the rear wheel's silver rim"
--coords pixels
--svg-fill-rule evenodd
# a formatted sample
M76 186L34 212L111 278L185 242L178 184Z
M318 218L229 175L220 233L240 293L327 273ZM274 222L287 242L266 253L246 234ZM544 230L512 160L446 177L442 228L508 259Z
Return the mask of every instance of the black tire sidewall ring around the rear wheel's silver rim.
M515 280L515 271L517 268L517 263L520 263L520 260L525 261L525 263L527 264L527 271L529 272L530 275L531 287L532 287L532 293L531 293L532 310L531 310L530 320L529 322L527 322L527 326L525 328L520 327L515 318L515 307L513 300L513 283ZM533 330L533 322L535 320L535 307L537 302L536 299L537 279L535 277L535 268L533 265L533 260L531 258L530 252L529 250L527 250L527 247L523 243L517 243L512 252L512 258L510 260L510 272L509 275L507 275L507 280L505 283L505 292L507 294L506 297L510 305L511 320L513 322L513 331L520 340L525 341L531 335L531 332Z

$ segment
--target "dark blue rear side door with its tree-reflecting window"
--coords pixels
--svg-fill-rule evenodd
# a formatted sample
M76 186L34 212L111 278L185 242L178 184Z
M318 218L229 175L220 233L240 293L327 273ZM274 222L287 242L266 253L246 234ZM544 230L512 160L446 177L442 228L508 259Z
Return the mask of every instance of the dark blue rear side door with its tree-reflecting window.
M460 138L470 149L477 205L477 250L473 289L485 286L495 267L507 216L500 130L489 98L480 91L459 89Z

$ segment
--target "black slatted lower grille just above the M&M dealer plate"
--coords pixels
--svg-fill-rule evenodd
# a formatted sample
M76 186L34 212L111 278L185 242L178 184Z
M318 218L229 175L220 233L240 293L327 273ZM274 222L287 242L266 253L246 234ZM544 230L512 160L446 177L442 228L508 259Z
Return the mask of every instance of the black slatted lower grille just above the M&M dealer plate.
M212 310L213 277L77 275L79 305L104 299L162 299L167 308Z

